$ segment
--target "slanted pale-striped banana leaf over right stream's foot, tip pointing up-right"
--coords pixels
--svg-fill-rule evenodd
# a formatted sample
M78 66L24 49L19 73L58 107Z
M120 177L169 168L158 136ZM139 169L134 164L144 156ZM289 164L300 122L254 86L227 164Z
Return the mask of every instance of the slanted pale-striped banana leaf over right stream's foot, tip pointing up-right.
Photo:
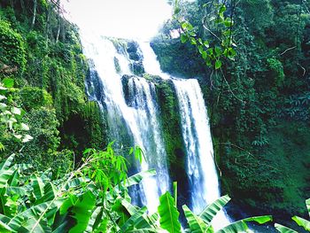
M221 208L225 206L229 200L230 198L228 195L218 198L212 204L206 206L205 210L199 215L199 217L209 225L213 220L213 217L221 211Z

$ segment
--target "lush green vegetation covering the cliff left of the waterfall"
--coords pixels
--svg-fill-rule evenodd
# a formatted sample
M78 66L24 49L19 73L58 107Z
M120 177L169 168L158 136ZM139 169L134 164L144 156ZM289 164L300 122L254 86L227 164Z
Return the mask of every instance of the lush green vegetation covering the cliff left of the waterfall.
M38 170L65 169L84 148L106 145L102 113L86 100L88 66L77 28L61 12L50 1L0 3L0 79L10 78L19 88L10 92L14 105L26 111L21 114L34 137L17 159ZM4 158L20 150L4 134L0 141Z

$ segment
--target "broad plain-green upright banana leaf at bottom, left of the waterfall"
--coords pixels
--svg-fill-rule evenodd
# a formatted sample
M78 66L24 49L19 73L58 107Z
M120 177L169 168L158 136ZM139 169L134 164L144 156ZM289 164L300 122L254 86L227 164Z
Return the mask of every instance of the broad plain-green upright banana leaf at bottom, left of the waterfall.
M73 217L76 220L74 228L69 233L83 232L89 225L92 211L96 205L96 197L90 192L85 192L72 209Z

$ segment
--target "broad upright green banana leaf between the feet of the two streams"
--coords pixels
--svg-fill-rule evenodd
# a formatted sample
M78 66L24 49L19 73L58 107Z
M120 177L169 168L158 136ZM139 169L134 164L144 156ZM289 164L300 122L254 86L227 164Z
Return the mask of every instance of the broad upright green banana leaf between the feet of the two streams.
M159 198L159 203L160 227L170 233L181 233L180 214L174 206L174 198L167 191Z

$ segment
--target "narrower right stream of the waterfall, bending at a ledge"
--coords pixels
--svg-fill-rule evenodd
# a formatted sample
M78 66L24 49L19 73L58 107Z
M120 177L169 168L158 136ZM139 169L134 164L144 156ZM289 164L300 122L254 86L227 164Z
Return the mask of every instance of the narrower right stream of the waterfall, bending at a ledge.
M221 197L218 175L213 158L213 141L205 101L196 79L178 79L163 73L150 43L139 43L143 53L143 66L147 73L172 79L179 101L182 137L187 152L186 172L190 180L191 209L200 214L206 204ZM223 212L213 220L214 229L229 224Z

